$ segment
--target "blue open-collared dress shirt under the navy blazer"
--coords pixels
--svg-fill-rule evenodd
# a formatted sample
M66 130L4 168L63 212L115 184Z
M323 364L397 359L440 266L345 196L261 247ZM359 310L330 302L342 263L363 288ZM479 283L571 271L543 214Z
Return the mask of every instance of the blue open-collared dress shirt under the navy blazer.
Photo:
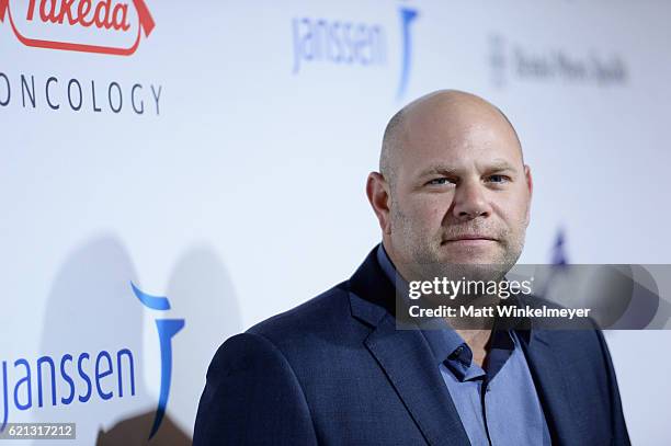
M396 268L382 243L377 260L396 284ZM473 362L473 352L464 339L446 323L443 330L421 332L471 445L550 445L543 408L520 345L523 333L494 331L482 369Z

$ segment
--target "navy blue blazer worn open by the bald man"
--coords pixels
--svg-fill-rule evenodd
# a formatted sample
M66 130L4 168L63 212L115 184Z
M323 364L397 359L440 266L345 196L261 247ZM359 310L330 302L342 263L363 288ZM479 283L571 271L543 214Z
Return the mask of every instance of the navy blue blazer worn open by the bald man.
M228 339L207 370L195 446L469 445L431 350L396 330L375 250L346 282ZM628 445L596 330L523 342L554 445Z

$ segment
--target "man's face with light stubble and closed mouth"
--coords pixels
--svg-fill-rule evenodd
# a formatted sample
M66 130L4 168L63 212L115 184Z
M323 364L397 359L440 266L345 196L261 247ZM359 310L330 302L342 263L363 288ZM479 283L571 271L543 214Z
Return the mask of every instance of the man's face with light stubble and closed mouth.
M531 174L498 111L454 108L428 107L405 122L388 244L416 267L497 264L508 272L524 245Z

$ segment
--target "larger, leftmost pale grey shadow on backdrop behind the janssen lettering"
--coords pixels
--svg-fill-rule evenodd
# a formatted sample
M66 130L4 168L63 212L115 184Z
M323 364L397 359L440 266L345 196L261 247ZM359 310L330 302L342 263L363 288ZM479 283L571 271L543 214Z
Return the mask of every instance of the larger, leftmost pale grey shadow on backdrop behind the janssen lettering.
M141 323L143 307L129 287L137 274L128 252L113 235L94 238L77 248L62 263L55 276L47 300L41 354L75 357L73 368L82 353L90 357L82 362L82 368L91 377L89 399L80 401L88 392L88 386L79 376L77 396L64 410L64 404L46 404L34 411L35 422L77 423L77 443L93 444L101 425L112 423L123 413L138 412L151 408L152 398L141 379ZM134 370L124 375L125 394L118 393L116 379L109 376L104 391L111 391L109 400L100 398L94 379L96 355L116 353L127 348L133 354ZM113 362L113 366L115 366ZM75 375L77 371L70 371ZM115 375L116 376L116 375ZM134 379L133 379L134 378ZM135 384L135 394L130 381ZM102 380L101 380L102 381ZM101 385L101 387L103 387ZM70 389L62 379L57 380L57 402ZM48 392L47 392L48 394ZM35 442L36 446L43 442Z

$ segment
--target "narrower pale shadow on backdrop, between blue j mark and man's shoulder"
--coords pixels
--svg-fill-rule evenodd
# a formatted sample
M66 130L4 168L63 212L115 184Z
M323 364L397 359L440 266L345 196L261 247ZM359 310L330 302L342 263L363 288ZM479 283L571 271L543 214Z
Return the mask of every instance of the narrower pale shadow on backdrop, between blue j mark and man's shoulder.
M172 386L166 419L151 441L145 434L153 422L153 408L100 432L96 446L192 443L207 366L221 342L241 330L240 310L224 263L207 247L192 248L180 258L164 295L171 311L185 320L184 330L172 340Z

